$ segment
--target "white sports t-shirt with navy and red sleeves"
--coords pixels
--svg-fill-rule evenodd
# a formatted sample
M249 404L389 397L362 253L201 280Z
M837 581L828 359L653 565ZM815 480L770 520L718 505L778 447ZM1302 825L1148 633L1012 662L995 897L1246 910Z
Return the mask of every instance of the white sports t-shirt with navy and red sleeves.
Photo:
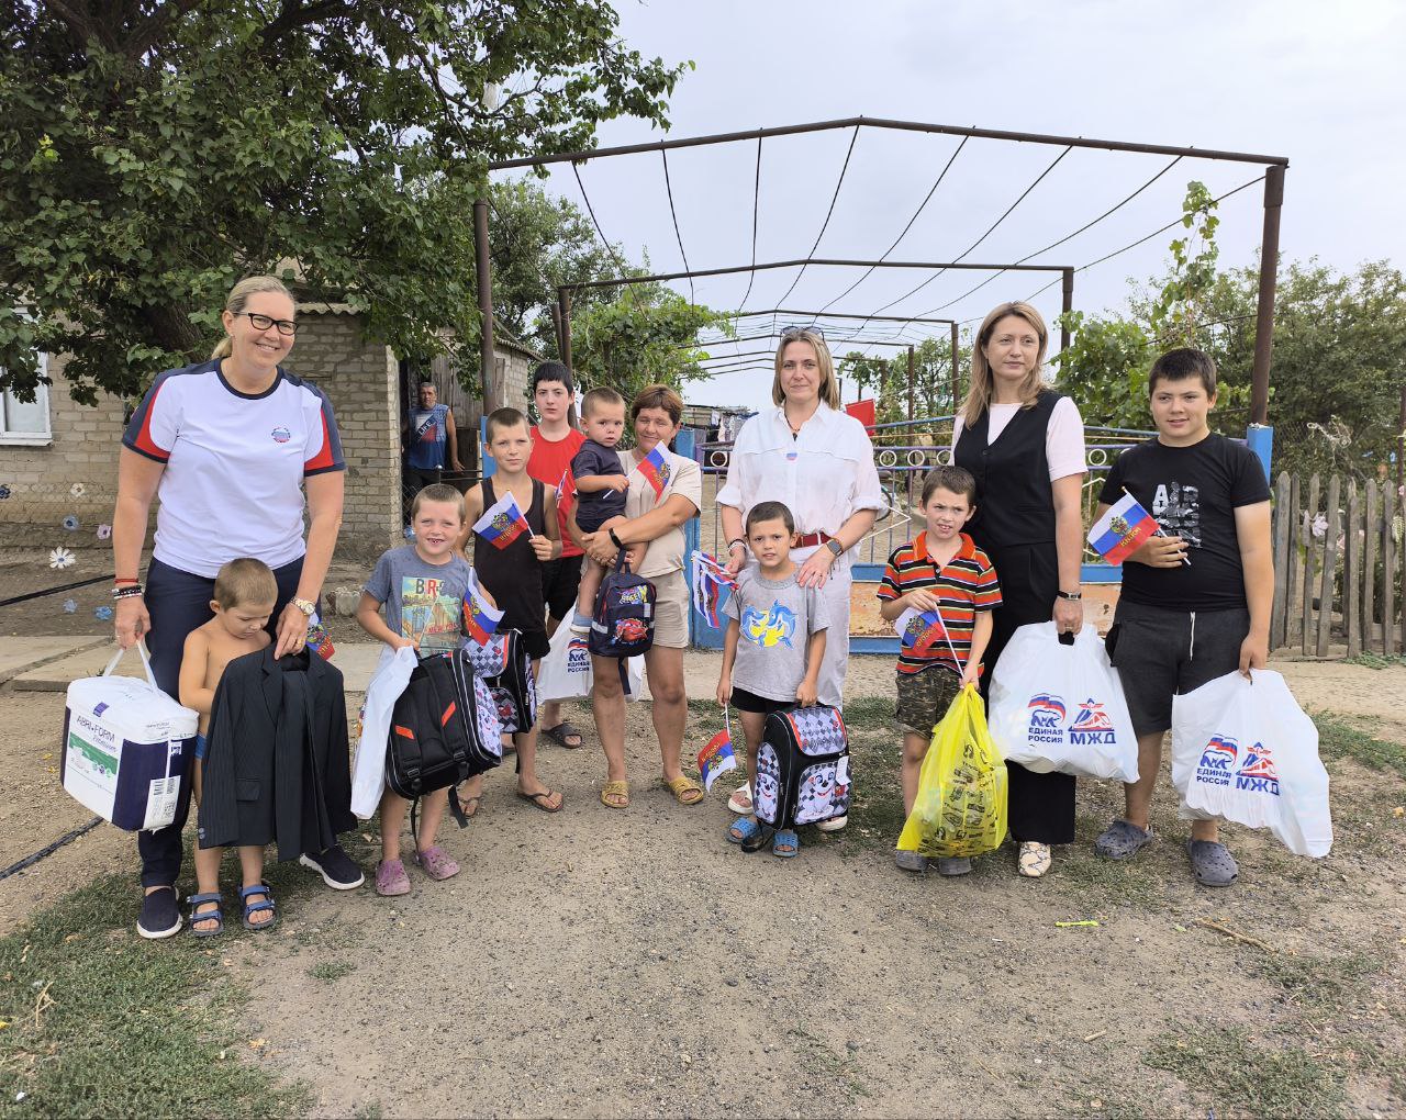
M281 367L254 395L225 381L219 361L167 370L122 444L166 464L152 555L207 579L238 556L270 568L298 559L302 479L346 469L328 398Z

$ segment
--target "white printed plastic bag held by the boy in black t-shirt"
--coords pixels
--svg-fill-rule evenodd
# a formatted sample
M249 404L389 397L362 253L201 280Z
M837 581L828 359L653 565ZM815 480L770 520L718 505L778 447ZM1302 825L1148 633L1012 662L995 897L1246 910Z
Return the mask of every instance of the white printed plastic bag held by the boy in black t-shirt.
M1333 846L1317 728L1284 677L1226 673L1171 701L1171 784L1178 815L1267 828L1299 856Z

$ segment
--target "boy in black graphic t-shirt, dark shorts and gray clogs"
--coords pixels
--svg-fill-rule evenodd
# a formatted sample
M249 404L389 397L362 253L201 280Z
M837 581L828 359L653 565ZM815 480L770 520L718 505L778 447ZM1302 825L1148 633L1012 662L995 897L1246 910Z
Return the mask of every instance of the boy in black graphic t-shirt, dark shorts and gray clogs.
M1094 843L1123 860L1152 842L1147 814L1171 727L1171 697L1239 669L1264 668L1270 653L1274 566L1270 486L1260 460L1216 436L1216 367L1202 351L1171 350L1149 377L1156 438L1118 457L1098 513L1123 493L1157 519L1161 533L1123 565L1108 655L1137 732L1139 780L1125 787L1126 815ZM1195 821L1187 845L1205 887L1229 887L1239 868L1215 821Z

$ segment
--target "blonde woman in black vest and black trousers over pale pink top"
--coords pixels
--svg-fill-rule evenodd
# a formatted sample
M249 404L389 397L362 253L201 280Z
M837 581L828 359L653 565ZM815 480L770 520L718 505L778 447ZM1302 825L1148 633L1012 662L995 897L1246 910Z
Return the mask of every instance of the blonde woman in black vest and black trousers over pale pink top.
M1077 634L1084 422L1067 396L1043 386L1049 332L1029 304L1001 304L972 349L972 385L952 433L953 458L977 481L972 540L995 565L1001 606L986 648L983 690L1017 627L1054 620ZM1010 826L1019 871L1039 878L1050 845L1074 839L1074 779L1010 770Z

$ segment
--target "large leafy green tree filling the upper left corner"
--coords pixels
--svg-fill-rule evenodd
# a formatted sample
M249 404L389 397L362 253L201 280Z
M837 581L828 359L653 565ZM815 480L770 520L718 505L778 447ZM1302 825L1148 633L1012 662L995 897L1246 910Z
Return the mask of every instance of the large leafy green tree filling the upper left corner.
M401 354L477 368L486 162L666 125L683 67L616 27L569 0L13 0L0 385L32 391L44 350L80 401L134 393L208 353L239 275L292 263Z

